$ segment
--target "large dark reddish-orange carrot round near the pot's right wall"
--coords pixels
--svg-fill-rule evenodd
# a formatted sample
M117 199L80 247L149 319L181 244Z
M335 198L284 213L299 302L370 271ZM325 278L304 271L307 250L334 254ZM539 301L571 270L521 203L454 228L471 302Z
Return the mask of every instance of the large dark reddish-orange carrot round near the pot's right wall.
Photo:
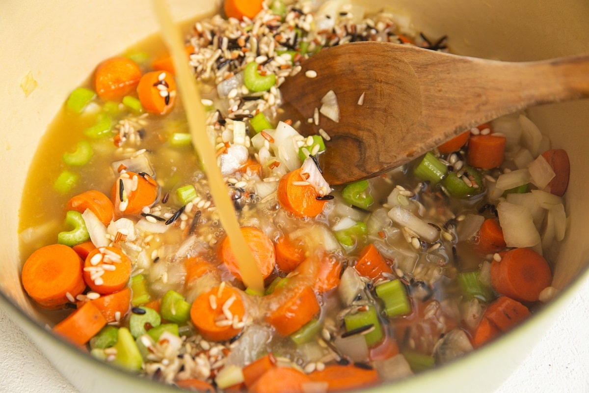
M491 263L491 283L502 295L521 302L535 302L542 289L552 282L548 262L528 248L504 253L501 260Z

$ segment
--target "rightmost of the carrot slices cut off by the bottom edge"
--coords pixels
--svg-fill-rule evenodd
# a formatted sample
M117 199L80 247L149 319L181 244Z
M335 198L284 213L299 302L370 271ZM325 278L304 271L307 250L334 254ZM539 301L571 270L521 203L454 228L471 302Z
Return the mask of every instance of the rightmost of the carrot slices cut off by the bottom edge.
M313 381L327 382L328 392L367 388L380 381L375 369L339 364L328 365L321 371L313 371L309 377Z

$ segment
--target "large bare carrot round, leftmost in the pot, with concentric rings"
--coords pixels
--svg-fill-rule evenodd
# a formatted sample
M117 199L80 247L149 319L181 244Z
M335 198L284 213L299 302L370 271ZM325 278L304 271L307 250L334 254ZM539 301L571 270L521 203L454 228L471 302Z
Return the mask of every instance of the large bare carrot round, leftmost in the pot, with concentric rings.
M82 259L68 246L41 247L22 266L22 285L39 306L60 308L84 292Z

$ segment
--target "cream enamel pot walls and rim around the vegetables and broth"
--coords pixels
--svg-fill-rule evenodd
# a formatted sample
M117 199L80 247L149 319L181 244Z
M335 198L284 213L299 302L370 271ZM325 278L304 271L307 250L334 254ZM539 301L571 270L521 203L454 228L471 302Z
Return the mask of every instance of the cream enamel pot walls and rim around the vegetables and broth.
M374 1L367 3L379 5ZM589 52L589 3L585 0L386 3L393 12L411 16L413 26L426 35L448 34L452 50L460 54L525 61ZM172 11L177 19L187 19L213 9L212 2L174 0ZM54 2L5 0L3 15L5 61L0 78L0 118L4 127L0 131L0 179L9 186L0 195L0 204L4 206L0 214L5 225L0 240L0 292L5 311L81 392L175 391L102 364L52 336L45 331L42 315L24 295L19 281L18 202L39 139L64 98L88 77L98 62L157 30L151 8L144 0L80 0L68 2L67 7ZM27 78L36 83L32 91L22 87ZM530 116L551 138L552 147L567 150L571 160L571 179L565 196L567 236L558 253L552 284L560 295L492 345L452 364L398 382L396 391L435 388L481 392L497 388L555 322L575 291L589 280L589 242L585 241L589 210L583 203L589 194L589 171L584 170L589 150L589 139L585 137L589 101L532 108Z

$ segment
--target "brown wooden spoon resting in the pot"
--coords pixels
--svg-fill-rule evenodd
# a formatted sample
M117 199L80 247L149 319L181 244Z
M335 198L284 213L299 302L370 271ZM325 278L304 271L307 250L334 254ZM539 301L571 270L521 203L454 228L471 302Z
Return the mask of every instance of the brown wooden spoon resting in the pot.
M320 115L318 125L309 123L329 90L339 122ZM301 120L303 134L319 128L329 134L323 176L345 184L407 163L500 115L588 97L589 55L503 62L354 42L313 55L280 91L286 117Z

